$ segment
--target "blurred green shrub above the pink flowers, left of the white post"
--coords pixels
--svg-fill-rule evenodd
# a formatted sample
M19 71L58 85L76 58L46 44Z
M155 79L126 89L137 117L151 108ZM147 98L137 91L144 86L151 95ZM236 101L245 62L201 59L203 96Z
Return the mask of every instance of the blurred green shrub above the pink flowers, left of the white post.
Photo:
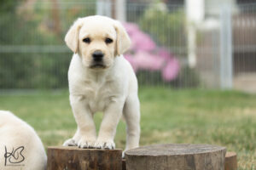
M148 32L155 42L166 48L186 47L185 17L183 10L175 6L159 7L161 3L149 6L138 21L143 31Z

